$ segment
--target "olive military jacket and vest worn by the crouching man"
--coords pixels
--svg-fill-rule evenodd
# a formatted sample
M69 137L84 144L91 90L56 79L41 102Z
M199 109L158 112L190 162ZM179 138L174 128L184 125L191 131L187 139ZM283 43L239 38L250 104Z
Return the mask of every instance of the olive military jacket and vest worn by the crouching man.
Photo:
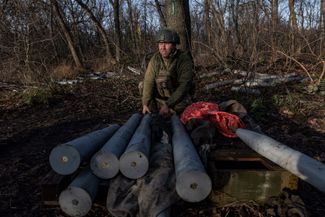
M159 52L151 58L143 81L142 104L167 105L177 113L191 104L193 61L188 52L176 50L168 59Z

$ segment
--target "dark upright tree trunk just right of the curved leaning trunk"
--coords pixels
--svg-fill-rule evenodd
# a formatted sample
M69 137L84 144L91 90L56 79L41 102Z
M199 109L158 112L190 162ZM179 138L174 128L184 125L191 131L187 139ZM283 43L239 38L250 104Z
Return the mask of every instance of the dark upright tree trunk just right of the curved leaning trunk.
M116 34L116 61L120 62L121 60L121 45L122 45L122 39L121 39L121 26L120 26L120 3L119 0L110 0L110 3L113 6L114 10L114 27L115 27L115 34Z

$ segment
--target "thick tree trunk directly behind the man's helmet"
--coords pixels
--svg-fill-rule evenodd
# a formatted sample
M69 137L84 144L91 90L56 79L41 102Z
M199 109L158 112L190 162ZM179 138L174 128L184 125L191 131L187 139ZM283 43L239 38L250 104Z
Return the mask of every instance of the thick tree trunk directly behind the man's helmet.
M188 0L166 0L167 27L178 32L183 50L191 50L191 18Z

